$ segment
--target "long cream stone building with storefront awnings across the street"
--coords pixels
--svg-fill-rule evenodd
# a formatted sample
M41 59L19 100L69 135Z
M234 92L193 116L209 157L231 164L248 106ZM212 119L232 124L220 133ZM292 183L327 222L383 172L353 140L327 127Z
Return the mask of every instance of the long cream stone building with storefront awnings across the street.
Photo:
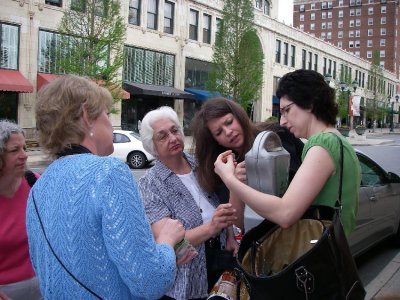
M58 23L73 1L2 0L0 4L0 118L15 119L28 138L34 136L37 91L57 73L51 54L60 45ZM169 105L186 127L198 106L212 94L205 90L205 82L224 1L120 0L120 4L127 27L121 77L129 94L117 104L119 113L112 116L113 126L137 129L148 110ZM254 1L254 22L265 59L253 119L263 121L278 115L279 102L274 95L279 78L299 68L330 73L330 84L338 91L339 76L345 73L357 80L357 93L367 106L371 64L280 22L278 12L286 9L284 4ZM394 73L383 71L382 103L397 93L398 83Z

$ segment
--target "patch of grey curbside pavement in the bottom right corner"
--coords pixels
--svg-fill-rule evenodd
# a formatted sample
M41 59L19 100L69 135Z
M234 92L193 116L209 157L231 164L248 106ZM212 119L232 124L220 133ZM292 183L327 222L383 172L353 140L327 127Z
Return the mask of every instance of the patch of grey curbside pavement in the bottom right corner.
M366 300L400 299L400 253L366 287Z

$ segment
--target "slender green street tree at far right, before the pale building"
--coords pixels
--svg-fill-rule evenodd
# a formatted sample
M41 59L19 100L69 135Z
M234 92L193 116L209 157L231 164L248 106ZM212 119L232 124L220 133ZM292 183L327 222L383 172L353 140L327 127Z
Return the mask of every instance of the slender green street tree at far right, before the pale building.
M370 82L368 82L368 89L371 90L373 94L372 109L370 113L372 117L372 123L375 125L377 118L377 99L381 99L383 96L381 94L383 87L383 71L380 65L379 51L374 51L372 53L372 62L368 75L370 80ZM375 130L375 126L372 128L372 130Z

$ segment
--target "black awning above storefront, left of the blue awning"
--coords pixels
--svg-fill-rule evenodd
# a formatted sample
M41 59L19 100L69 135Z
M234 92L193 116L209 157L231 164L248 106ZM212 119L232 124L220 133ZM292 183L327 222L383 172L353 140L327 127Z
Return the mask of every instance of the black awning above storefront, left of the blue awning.
M123 87L132 95L195 100L193 94L170 86L124 82Z

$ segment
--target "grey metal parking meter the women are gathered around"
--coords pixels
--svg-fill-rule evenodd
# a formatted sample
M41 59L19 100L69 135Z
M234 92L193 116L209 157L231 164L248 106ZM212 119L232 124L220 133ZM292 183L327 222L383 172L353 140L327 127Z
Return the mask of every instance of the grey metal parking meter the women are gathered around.
M245 155L247 184L252 188L281 197L288 187L290 154L283 148L281 139L272 131L260 132ZM246 206L245 230L264 218Z

